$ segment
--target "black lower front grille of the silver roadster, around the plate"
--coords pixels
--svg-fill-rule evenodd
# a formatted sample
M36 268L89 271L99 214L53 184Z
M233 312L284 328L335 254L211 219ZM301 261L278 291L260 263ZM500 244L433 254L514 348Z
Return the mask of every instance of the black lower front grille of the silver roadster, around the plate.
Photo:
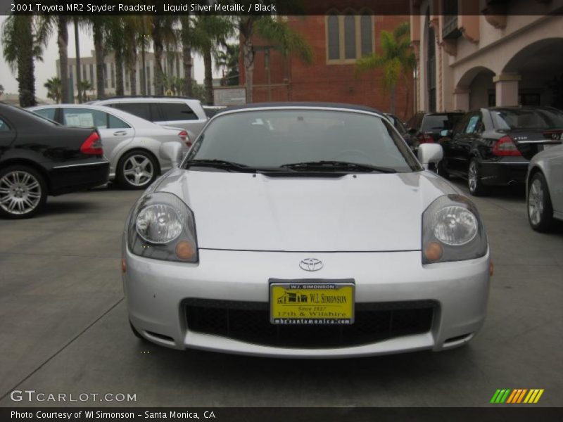
M365 345L430 330L438 305L432 300L357 303L351 325L274 325L263 302L187 299L190 331L258 345L328 348Z

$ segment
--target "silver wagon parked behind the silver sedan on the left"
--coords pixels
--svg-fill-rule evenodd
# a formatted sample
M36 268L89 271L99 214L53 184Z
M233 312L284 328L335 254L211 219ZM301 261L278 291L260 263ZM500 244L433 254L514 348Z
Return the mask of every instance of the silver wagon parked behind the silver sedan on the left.
M196 139L208 117L199 100L172 96L123 96L91 101L98 106L118 108L149 122L181 127L189 139Z

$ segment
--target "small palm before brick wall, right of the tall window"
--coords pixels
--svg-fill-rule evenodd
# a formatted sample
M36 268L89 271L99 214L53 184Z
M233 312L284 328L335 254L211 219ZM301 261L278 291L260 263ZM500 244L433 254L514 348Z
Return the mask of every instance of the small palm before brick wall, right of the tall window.
M372 53L369 56L362 57L356 62L356 70L365 72L376 68L383 69L383 77L381 83L385 91L391 91L391 113L395 114L395 91L399 79L405 81L405 89L407 93L408 107L409 104L409 83L408 77L412 75L415 68L415 53L410 48L410 24L408 22L401 23L393 30L393 33L381 31L380 44L381 54ZM408 109L407 109L408 110ZM405 115L407 114L405 110Z

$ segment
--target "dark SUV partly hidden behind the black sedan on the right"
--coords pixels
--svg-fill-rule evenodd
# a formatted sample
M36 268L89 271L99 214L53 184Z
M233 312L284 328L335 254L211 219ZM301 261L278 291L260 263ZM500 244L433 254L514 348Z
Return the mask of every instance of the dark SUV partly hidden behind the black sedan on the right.
M452 129L463 117L461 111L445 113L419 112L412 116L406 126L410 136L409 145L416 151L421 143L435 143L441 139L443 130Z

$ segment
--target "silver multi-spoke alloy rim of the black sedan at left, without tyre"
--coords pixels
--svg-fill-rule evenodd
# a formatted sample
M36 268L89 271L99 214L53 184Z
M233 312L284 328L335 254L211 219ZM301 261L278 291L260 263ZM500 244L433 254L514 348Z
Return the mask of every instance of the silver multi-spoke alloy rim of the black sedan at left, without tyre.
M32 212L42 198L41 184L33 174L14 170L0 179L0 207L12 215Z

